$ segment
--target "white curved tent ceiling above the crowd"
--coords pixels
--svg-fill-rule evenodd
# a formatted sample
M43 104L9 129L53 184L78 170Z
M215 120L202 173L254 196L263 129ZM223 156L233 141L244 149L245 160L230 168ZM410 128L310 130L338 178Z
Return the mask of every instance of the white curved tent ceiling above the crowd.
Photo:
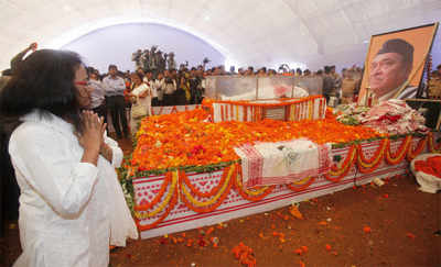
M363 51L373 34L438 21L441 1L0 0L0 68L33 41L55 47L137 21L189 31L240 64L273 65Z

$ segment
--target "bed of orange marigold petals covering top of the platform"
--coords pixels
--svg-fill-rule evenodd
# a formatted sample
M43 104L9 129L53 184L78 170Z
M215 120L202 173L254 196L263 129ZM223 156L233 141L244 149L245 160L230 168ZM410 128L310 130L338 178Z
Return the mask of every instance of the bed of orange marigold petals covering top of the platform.
M146 118L137 133L131 158L135 171L205 166L238 160L234 147L244 143L306 137L318 144L348 143L379 137L363 126L344 125L333 115L324 120L212 123L202 109Z

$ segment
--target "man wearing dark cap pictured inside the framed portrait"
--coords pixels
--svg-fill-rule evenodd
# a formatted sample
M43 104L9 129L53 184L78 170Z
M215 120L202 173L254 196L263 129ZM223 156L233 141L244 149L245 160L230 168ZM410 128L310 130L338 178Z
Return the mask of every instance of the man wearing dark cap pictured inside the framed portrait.
M386 41L370 64L369 87L379 101L391 98L415 98L417 87L398 91L409 78L413 63L413 46L402 38Z

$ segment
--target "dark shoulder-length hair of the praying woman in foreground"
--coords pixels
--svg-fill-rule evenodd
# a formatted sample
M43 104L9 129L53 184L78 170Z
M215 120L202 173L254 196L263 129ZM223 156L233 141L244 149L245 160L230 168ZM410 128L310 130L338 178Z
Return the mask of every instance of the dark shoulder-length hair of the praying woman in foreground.
M0 115L19 125L20 116L39 110L68 120L82 132L75 73L82 65L78 54L68 51L41 49L20 65L0 92Z

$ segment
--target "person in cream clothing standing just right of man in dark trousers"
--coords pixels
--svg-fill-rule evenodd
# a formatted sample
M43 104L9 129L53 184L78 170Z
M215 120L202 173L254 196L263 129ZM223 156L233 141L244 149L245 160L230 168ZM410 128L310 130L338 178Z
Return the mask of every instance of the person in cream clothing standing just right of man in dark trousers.
M133 85L133 89L129 93L130 101L132 104L141 104L144 107L147 115L151 115L151 88L142 81L138 73L133 73L130 78ZM138 125L141 120L142 118L135 118L132 112L130 112L130 131L132 134L138 132Z

